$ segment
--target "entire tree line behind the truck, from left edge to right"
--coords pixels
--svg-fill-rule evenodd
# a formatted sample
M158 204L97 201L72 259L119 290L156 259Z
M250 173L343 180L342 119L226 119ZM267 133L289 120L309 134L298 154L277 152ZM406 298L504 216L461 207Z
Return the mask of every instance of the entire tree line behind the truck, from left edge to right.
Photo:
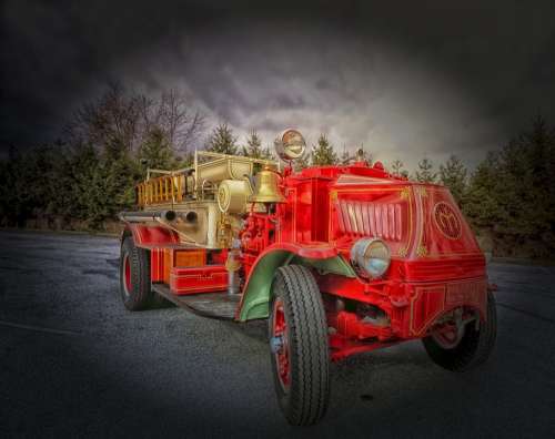
M0 225L39 222L42 227L104 229L120 211L133 208L134 186L148 167L191 165L198 144L224 154L274 159L256 131L240 142L222 123L206 135L203 115L176 91L150 99L110 85L75 113L63 141L24 152L11 147L0 161ZM295 167L361 160L372 163L363 147L337 154L322 134ZM424 157L412 174L401 160L386 167L392 174L447 186L494 254L553 258L555 131L544 119L490 152L472 172L456 155L437 167Z

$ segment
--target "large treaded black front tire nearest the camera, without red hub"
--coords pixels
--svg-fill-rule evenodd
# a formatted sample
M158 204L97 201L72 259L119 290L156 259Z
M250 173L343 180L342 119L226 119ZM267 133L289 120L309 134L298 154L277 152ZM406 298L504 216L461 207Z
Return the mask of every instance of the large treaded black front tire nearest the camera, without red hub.
M300 265L276 270L272 284L269 334L273 307L280 297L289 331L291 381L285 391L280 384L271 353L278 401L287 421L295 426L316 423L330 400L330 354L327 323L322 296L311 272Z

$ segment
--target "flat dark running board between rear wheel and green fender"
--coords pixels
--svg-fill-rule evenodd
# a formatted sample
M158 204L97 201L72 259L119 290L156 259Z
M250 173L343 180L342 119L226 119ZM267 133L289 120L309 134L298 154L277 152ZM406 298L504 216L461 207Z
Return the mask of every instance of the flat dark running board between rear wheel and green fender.
M181 308L220 320L234 320L241 300L240 294L230 295L228 292L178 296L165 284L152 284L152 289Z

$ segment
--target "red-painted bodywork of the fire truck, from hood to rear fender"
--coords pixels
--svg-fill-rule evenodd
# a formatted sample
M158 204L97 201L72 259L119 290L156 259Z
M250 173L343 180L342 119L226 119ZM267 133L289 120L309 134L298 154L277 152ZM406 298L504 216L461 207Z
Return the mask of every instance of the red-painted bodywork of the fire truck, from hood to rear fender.
M446 188L356 163L296 174L286 169L281 190L285 203L269 213L245 215L239 235L243 289L256 264L274 251L349 261L353 243L369 236L382 238L391 248L391 265L382 279L315 274L332 328L332 359L424 337L438 317L458 307L485 318L485 259ZM164 267L155 249L178 243L176 235L163 227L129 227L139 246L153 249L152 278L159 279ZM171 268L172 290L224 289L226 272L220 264L225 256L226 252L219 252L209 257L218 265ZM333 305L337 299L347 308L337 310ZM377 327L364 320L354 309L356 304L377 307L389 324Z

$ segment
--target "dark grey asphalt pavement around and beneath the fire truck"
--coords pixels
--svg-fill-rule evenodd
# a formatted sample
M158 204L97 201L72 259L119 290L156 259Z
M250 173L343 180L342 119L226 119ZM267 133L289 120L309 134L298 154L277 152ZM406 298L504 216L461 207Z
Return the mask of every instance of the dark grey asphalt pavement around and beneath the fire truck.
M265 323L130 313L119 242L0 232L0 437L555 437L555 267L492 264L496 349L452 374L418 341L332 365L324 420L280 414Z

